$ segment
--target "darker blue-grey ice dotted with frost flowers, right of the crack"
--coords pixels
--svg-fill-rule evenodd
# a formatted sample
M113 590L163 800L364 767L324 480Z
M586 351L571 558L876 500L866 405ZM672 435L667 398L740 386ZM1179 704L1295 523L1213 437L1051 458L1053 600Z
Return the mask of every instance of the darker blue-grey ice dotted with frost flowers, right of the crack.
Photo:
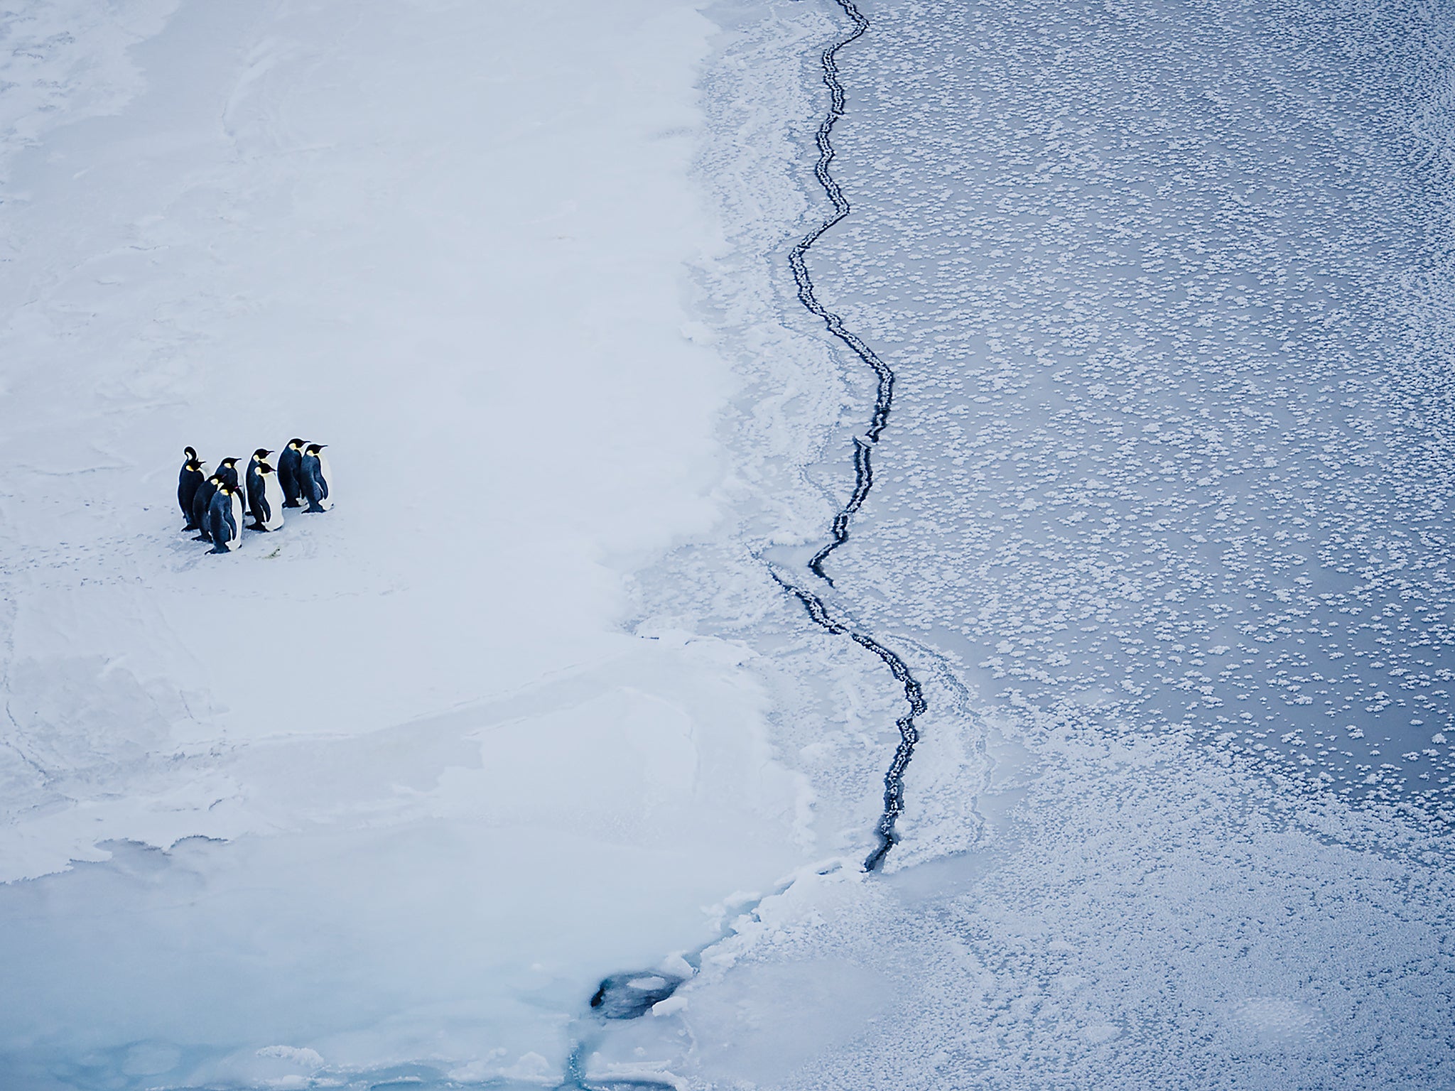
M867 13L813 269L899 381L844 594L986 697L1445 812L1442 17Z

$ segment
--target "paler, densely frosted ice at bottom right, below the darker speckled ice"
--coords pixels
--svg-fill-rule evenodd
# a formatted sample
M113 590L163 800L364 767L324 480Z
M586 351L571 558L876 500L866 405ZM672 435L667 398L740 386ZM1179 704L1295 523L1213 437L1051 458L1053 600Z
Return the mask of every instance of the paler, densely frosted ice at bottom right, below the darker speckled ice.
M1165 740L1058 724L992 743L1004 775L981 803L1007 818L975 852L802 877L594 1071L650 1058L701 1088L1449 1087L1448 845L1353 839L1346 813L1301 812Z

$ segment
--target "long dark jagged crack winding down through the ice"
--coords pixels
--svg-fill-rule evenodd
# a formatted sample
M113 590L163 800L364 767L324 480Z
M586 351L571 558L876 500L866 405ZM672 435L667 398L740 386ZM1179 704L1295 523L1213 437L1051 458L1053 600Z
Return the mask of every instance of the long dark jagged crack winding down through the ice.
M844 196L844 191L840 189L838 182L834 180L834 175L829 172L829 164L834 161L834 143L831 135L834 132L834 125L841 116L844 116L845 105L844 84L838 81L838 51L861 38L869 29L869 20L854 6L853 0L835 0L835 3L838 3L838 6L844 10L844 15L848 16L853 29L824 49L821 57L824 65L824 86L829 90L829 109L824 116L824 121L819 122L818 134L815 135L819 157L818 163L813 166L813 176L818 177L819 185L824 186L824 192L828 193L828 199L834 205L834 212L818 227L803 236L803 239L800 239L789 252L789 266L793 269L793 281L799 289L799 301L810 314L822 319L828 332L847 345L848 349L858 356L858 359L873 369L879 380L879 388L874 391L874 409L869 417L869 428L863 435L854 436L854 490L850 493L848 502L844 503L844 506L840 508L838 513L834 516L834 522L829 527L828 543L824 548L813 554L812 560L809 560L809 570L829 586L834 586L834 580L824 572L824 562L828 560L828 556L834 550L848 541L848 524L869 497L870 489L874 487L873 449L879 442L880 433L885 431L885 425L889 422L889 409L895 400L895 372L888 364L879 359L869 345L860 340L844 326L844 320L840 319L838 314L819 303L818 292L813 288L813 278L809 276L806 262L808 253L813 244L834 225L842 223L851 211L848 198ZM904 810L904 775L905 770L909 767L909 759L914 756L915 743L920 742L920 729L915 726L915 717L922 716L927 707L924 690L909 672L904 659L901 659L895 652L889 650L873 637L864 633L856 633L848 626L835 621L828 612L828 607L825 607L824 601L813 592L805 591L803 588L783 579L783 576L777 573L773 573L773 578L783 586L784 591L803 604L803 608L808 611L815 624L829 633L847 636L860 647L873 652L879 656L885 666L889 668L895 681L904 687L905 701L909 706L909 711L895 720L895 726L899 729L899 745L895 748L893 761L885 772L885 809L879 816L879 825L876 828L879 844L864 860L866 871L877 871L885 863L885 857L889 854L889 850L893 848L895 841L898 839L895 834L895 823L899 819L899 813Z

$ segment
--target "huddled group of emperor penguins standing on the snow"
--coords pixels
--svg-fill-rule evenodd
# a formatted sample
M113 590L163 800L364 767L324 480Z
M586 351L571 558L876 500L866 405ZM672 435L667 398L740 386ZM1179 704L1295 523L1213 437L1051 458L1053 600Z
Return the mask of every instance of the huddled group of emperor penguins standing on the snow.
M329 490L332 471L323 454L327 444L290 439L274 465L272 451L259 447L247 463L242 481L237 460L224 458L211 474L191 447L182 454L178 474L178 506L186 521L183 531L198 531L192 541L210 541L210 553L231 553L243 543L243 512L252 512L250 531L282 528L284 508L326 512L333 506ZM244 503L246 496L246 503Z

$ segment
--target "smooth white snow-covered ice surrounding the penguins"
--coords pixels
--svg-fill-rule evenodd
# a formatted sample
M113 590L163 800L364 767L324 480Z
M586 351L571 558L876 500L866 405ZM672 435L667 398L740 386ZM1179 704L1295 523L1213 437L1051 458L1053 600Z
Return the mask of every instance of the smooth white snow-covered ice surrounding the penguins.
M0 1084L560 1072L809 848L754 653L621 627L725 511L711 23L12 7ZM185 444L292 435L332 512L179 532Z

